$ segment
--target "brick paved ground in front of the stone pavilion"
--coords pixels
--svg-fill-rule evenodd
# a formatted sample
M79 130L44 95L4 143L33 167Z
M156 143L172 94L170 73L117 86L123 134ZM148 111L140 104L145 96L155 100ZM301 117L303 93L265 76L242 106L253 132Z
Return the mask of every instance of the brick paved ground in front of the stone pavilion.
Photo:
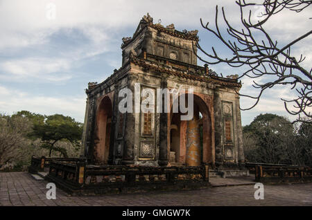
M253 185L101 196L69 196L57 190L57 199L47 200L46 183L26 172L0 173L0 205L312 205L312 183L265 185L264 200L254 199Z

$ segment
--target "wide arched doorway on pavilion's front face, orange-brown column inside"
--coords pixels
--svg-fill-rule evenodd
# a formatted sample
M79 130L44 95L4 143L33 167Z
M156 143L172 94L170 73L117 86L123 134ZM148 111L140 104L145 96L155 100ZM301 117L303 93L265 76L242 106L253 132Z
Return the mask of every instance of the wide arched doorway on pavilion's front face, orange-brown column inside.
M207 103L199 95L193 94L193 119L180 120L181 115L180 109L179 112L173 113L173 107L171 107L168 132L171 164L198 166L201 163L214 163L211 116Z

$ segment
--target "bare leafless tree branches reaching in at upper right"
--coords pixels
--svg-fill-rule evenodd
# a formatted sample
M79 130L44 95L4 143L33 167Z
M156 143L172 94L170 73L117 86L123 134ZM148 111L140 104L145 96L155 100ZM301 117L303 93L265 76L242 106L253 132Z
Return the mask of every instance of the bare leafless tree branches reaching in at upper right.
M205 51L197 42L196 46L207 59L198 56L198 58L207 64L226 63L232 67L248 66L248 70L241 73L241 77L270 79L269 82L260 84L253 81L255 89L259 89L259 95L252 97L251 95L242 95L256 100L256 102L247 109L255 107L267 89L271 89L277 85L290 85L291 91L297 93L297 98L283 99L286 111L291 115L297 116L296 121L304 121L312 123L312 68L309 70L302 66L305 57L300 55L300 59L294 57L291 53L291 47L298 42L306 39L312 34L312 30L308 30L304 35L298 36L291 40L285 46L278 46L277 41L264 30L263 24L270 20L270 17L281 12L281 10L293 10L302 12L302 10L311 6L312 1L307 0L265 0L263 3L246 2L245 0L236 1L241 11L241 24L243 28L238 30L229 24L225 16L225 10L222 8L223 21L226 24L227 37L224 37L218 25L218 6L216 6L215 24L216 28L209 28L209 23L204 24L200 19L202 28L209 31L222 42L233 54L231 57L220 57L220 53L214 47L211 48L212 53ZM249 10L248 17L244 15L244 9L250 6L261 6L264 12L259 17L260 20L252 21L252 10ZM261 38L259 36L262 36ZM260 39L259 39L260 38ZM237 92L238 93L238 92ZM288 105L293 105L293 109L289 109ZM305 116L302 120L302 116Z

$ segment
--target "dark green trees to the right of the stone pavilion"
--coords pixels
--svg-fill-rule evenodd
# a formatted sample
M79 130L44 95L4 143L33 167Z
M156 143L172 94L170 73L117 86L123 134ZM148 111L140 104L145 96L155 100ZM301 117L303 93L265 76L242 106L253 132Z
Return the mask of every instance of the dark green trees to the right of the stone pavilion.
M243 127L245 157L250 162L311 166L312 125L275 114L261 114Z

